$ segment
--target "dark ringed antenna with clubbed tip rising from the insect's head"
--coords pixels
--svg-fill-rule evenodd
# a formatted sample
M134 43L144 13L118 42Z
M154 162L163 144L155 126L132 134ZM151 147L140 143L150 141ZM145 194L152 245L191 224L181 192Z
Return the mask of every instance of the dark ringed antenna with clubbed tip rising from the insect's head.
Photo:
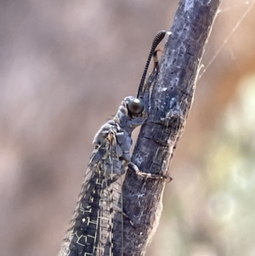
M167 31L159 31L157 34L156 34L156 37L154 37L154 40L152 42L152 45L151 45L151 48L150 48L150 54L148 56L148 60L146 62L146 65L144 67L144 72L143 72L143 76L141 78L141 82L139 84L139 89L138 89L138 94L137 94L137 98L140 99L141 96L140 94L142 93L143 91L143 87L144 87L144 81L145 81L145 78L146 78L146 74L147 74L147 71L148 71L148 67L150 65L150 60L151 60L151 57L152 55L154 54L155 52L155 49L156 47L158 46L159 43L161 43L161 40L165 37Z

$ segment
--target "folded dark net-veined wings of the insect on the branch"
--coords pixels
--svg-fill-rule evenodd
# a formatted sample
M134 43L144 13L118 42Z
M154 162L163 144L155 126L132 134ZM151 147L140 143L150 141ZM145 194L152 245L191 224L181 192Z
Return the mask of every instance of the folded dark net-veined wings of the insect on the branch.
M119 158L122 151L116 141L116 127L110 128L88 164L71 229L59 256L113 255L113 217L117 212L122 212L122 184L119 178L123 167ZM122 239L117 242L122 242Z

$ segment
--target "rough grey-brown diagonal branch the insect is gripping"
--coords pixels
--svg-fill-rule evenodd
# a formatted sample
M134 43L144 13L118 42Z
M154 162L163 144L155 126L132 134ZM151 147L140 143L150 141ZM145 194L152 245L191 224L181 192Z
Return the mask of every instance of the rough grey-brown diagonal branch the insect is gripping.
M201 55L219 3L181 0L178 5L153 84L149 118L133 151L132 161L143 172L167 174L190 111ZM165 183L127 172L122 187L123 209L135 228L124 218L124 255L144 255L161 216Z

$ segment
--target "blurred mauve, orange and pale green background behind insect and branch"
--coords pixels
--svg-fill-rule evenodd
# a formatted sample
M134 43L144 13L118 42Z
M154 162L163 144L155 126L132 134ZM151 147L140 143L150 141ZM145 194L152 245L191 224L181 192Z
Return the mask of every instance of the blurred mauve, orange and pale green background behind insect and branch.
M54 256L94 134L178 0L0 6L0 255ZM222 1L146 256L255 255L254 17L254 1Z

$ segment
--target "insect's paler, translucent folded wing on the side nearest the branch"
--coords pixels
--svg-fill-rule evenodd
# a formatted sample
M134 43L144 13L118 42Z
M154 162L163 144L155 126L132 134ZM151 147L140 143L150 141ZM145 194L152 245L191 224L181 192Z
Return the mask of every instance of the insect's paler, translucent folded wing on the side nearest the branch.
M105 146L102 147L105 170L105 185L102 191L100 214L99 214L99 247L100 254L96 255L117 255L113 253L113 247L116 247L116 242L122 242L122 239L116 240L112 230L116 219L116 214L122 216L122 161L119 158L119 146L117 144L116 135L112 133L105 139ZM116 220L115 220L116 221ZM118 218L122 221L122 218ZM120 225L122 226L122 225ZM122 237L122 230L119 230ZM118 254L121 255L121 254Z

